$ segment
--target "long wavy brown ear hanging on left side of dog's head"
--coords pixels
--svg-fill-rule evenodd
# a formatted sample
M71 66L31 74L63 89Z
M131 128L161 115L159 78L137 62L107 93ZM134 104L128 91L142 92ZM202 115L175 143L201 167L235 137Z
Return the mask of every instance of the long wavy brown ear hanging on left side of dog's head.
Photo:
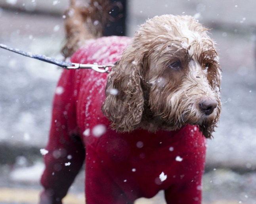
M111 121L111 128L130 132L141 122L144 98L141 87L143 57L130 47L113 67L108 78L102 105L103 114Z

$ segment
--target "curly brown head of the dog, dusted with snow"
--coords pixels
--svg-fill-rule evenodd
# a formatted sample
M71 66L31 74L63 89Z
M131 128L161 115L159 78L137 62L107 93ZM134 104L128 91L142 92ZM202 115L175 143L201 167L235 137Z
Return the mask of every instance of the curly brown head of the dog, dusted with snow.
M220 81L207 29L190 16L157 16L141 25L113 67L102 110L117 131L197 124L210 137L220 116Z

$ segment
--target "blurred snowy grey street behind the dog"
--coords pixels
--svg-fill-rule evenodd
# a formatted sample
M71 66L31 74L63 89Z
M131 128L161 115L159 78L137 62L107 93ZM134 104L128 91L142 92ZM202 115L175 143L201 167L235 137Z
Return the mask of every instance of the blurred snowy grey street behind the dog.
M0 44L63 59L68 0L0 0ZM204 204L256 204L256 2L127 0L126 35L162 14L192 15L210 28L222 67L223 111L208 140ZM0 49L0 204L36 203L51 103L61 69ZM84 172L66 204L84 203ZM138 204L164 204L162 193Z

